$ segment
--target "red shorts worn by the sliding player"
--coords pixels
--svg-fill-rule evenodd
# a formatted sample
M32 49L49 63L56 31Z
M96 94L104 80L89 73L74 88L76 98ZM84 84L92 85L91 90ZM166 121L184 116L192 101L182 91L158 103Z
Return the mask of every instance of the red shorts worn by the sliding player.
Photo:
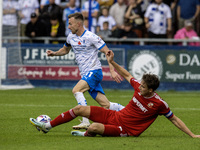
M116 111L108 110L98 106L90 106L91 112L89 119L93 122L104 124L103 136L127 136L128 134L118 124L115 117Z

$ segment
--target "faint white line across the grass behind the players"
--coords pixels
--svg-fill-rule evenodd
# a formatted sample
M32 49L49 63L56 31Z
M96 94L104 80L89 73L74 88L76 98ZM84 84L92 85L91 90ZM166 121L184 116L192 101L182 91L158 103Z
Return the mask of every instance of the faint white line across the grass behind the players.
M34 104L0 104L4 107L58 107L58 108L72 108L72 105L34 105ZM200 111L200 108L171 108L172 110L188 110L188 111Z

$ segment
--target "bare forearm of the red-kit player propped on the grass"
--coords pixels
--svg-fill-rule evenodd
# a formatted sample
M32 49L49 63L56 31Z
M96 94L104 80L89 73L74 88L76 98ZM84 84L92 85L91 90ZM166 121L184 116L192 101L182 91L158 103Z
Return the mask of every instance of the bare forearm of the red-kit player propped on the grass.
M179 128L181 131L185 132L186 134L188 134L189 136L191 136L192 138L200 138L200 135L195 135L194 133L192 133L190 131L190 129L185 125L185 123L179 119L178 117L176 117L175 115L172 118L169 118L169 120L177 127Z

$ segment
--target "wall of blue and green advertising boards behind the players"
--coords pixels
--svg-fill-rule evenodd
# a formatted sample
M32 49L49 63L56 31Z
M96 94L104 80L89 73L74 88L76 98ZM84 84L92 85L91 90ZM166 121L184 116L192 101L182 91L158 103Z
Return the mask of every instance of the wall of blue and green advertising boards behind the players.
M134 46L107 44L114 51L115 60L124 66L136 79L145 72L160 77L158 90L200 90L200 49L190 46ZM6 45L4 45L6 47ZM22 44L22 66L11 65L18 75L27 76L36 87L73 88L80 79L73 51L62 57L47 57L46 50L58 50L62 44ZM102 87L105 89L131 89L123 81L112 81L106 57L99 53L103 67Z

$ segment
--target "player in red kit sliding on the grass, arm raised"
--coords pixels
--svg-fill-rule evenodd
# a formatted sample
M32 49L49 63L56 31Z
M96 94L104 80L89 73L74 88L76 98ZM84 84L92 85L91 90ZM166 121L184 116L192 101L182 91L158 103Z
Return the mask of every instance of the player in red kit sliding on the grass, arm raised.
M94 123L89 126L87 131L74 130L71 132L72 135L139 136L155 121L158 115L164 115L189 136L200 138L200 135L193 134L183 121L172 113L168 104L155 92L160 83L156 75L144 74L141 82L139 82L113 60L114 53L111 50L108 51L107 55L108 61L117 72L135 89L131 101L124 109L117 112L98 106L78 105L62 113L49 123L38 122L34 118L30 118L30 122L46 133L53 127L67 123L77 116L83 116L89 118Z

